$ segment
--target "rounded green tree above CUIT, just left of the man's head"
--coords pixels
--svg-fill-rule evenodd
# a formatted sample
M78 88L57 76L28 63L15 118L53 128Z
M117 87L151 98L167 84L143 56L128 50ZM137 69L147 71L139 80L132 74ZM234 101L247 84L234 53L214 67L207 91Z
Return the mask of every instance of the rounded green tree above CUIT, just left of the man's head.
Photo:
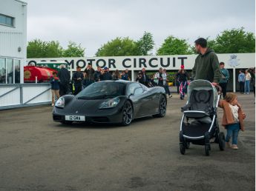
M186 55L191 54L191 47L185 39L168 36L162 46L157 50L157 55Z

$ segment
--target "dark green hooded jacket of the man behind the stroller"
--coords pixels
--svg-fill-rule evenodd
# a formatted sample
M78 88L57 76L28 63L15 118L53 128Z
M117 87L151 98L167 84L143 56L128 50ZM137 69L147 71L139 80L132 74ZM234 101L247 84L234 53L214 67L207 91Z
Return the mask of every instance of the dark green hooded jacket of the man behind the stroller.
M220 63L213 50L206 50L204 55L199 54L192 69L194 80L204 79L219 83L221 79Z

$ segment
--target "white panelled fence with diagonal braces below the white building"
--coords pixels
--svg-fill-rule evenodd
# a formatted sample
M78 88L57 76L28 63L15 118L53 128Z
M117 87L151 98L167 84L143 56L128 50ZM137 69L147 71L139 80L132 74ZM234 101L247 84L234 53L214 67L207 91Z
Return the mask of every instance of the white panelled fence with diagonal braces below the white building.
M1 84L0 110L50 104L50 84Z

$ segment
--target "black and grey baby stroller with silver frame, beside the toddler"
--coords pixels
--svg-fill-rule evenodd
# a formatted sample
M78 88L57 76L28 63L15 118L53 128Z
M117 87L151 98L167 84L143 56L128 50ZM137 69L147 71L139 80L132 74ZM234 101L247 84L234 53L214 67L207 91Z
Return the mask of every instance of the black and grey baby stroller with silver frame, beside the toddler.
M219 88L219 92L221 88ZM205 146L206 155L211 150L210 139L225 148L225 135L220 133L217 121L217 105L220 100L216 88L206 80L194 80L188 85L188 101L182 107L180 123L180 153L185 154L192 144Z

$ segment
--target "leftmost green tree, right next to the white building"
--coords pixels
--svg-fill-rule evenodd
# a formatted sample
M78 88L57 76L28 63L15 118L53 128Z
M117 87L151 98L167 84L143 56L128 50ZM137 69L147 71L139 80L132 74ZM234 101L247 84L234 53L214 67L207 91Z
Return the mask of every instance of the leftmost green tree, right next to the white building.
M62 57L59 41L41 41L35 39L27 44L27 58L59 58Z

